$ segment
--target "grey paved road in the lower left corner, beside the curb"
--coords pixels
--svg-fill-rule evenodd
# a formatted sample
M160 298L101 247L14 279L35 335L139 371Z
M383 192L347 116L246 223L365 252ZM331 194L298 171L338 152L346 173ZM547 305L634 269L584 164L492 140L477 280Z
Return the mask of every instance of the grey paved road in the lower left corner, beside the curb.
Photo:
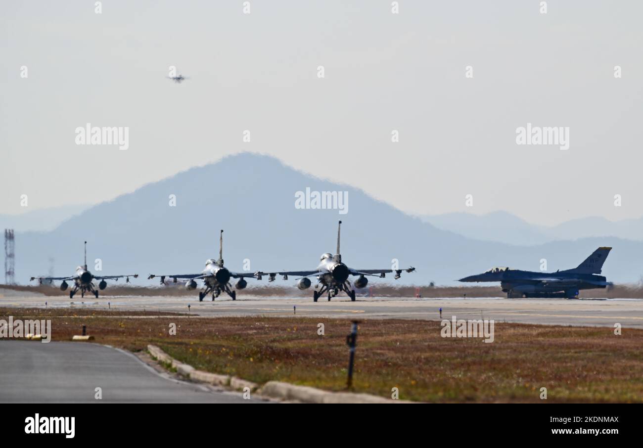
M0 341L0 359L2 403L263 402L172 379L132 354L98 344ZM102 400L95 398L98 387Z

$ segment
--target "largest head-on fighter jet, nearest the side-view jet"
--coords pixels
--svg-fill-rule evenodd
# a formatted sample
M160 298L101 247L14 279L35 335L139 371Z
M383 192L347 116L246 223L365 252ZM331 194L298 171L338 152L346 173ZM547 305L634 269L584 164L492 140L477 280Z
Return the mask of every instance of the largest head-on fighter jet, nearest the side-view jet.
M337 253L333 256L330 253L325 253L321 255L320 264L317 269L314 271L284 271L278 273L263 273L258 272L257 278L261 280L262 276L267 275L268 281L273 282L276 275L284 276L284 280L288 280L288 276L301 276L297 282L297 287L300 290L308 289L311 286L311 279L309 277L317 277L317 281L321 284L321 289L319 291L312 292L312 300L317 301L321 297L321 294L324 292L328 293L328 300L331 300L331 297L339 294L340 290L346 292L349 295L350 300L355 301L355 290L350 287L349 276L358 275L359 277L355 280L354 287L363 288L368 283L368 278L366 276L377 276L385 277L387 273L395 272L395 280L400 278L402 271L412 273L415 271L415 267L409 267L408 269L352 269L347 265L341 262L340 255L340 231L341 231L341 221L338 224L337 228ZM315 289L318 289L319 285L315 286Z

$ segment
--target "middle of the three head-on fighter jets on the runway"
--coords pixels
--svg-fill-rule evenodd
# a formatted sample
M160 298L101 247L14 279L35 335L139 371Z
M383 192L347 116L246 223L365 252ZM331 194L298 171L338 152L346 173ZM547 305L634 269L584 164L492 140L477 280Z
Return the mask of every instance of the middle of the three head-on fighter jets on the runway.
M203 280L203 289L199 291L199 301L203 301L203 298L212 292L212 301L215 298L219 297L222 291L228 293L228 296L232 300L237 300L237 291L231 291L230 278L239 278L239 282L235 284L235 288L244 289L248 286L248 282L244 277L255 277L254 273L233 273L228 271L226 267L223 267L223 231L219 235L219 260L214 260L210 258L205 262L205 269L199 274L168 274L168 275L156 275L150 274L148 279L154 277L161 277L161 285L165 283L165 278L170 277L174 279L174 283L177 280L185 282L185 289L192 291L197 288L197 282L194 280Z

